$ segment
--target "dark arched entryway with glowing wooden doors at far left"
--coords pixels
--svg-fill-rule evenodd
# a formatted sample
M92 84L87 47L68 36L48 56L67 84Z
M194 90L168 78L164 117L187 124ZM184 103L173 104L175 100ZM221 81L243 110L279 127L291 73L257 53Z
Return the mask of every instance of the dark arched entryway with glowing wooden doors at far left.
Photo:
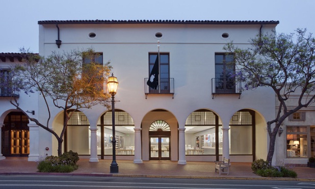
M11 112L2 128L2 153L4 156L28 156L30 154L29 120L21 112Z

